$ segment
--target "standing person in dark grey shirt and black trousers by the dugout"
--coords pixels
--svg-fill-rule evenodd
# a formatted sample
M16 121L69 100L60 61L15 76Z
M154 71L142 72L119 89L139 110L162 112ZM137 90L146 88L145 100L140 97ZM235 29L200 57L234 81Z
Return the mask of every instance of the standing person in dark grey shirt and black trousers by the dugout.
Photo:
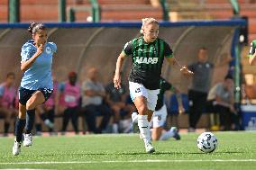
M188 66L194 72L192 85L188 90L189 100L189 128L188 132L194 132L202 112L205 110L207 93L212 79L214 65L208 60L207 49L198 50L197 62Z

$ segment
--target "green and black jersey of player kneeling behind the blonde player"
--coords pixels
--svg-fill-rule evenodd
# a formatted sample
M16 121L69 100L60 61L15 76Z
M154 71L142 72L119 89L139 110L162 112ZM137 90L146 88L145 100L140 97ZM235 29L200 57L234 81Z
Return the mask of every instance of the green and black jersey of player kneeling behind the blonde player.
M159 111L164 103L164 93L168 90L172 90L173 86L166 81L164 78L160 77L160 94L158 94L158 102L155 111Z

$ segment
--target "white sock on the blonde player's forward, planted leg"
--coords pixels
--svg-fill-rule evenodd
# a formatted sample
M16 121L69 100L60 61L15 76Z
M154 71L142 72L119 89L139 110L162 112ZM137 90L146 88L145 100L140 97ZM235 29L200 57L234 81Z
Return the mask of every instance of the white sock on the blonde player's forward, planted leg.
M144 143L151 142L151 130L150 123L148 121L148 115L138 115L138 126L141 132L142 139Z

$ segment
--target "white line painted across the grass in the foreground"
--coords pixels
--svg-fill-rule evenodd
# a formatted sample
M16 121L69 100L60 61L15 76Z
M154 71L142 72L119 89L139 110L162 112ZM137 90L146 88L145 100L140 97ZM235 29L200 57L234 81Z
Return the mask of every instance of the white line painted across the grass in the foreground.
M109 161L46 161L46 162L1 162L0 165L51 165L51 164L103 164L103 163L179 163L179 162L256 162L256 159L146 159L146 160L109 160Z

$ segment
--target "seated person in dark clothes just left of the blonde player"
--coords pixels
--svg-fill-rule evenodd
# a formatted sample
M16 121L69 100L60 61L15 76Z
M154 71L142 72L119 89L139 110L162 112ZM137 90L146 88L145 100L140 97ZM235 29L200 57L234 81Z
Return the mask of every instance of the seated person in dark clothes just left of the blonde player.
M133 106L126 103L126 89L123 84L121 84L121 88L116 89L112 81L110 84L106 85L105 92L105 101L114 112L113 132L118 133L120 131L120 121L127 118L131 119Z

